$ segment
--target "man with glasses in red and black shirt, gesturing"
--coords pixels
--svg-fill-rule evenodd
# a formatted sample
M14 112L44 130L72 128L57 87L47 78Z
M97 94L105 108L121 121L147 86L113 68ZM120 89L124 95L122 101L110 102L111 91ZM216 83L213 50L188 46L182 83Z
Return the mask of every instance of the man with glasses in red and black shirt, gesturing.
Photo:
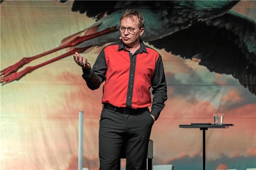
M144 17L125 11L120 19L120 41L105 46L93 68L77 52L75 62L91 90L103 81L103 109L99 127L100 170L118 169L122 143L126 143L126 170L146 170L149 137L164 108L167 87L160 54L145 45ZM153 88L151 112L150 87Z

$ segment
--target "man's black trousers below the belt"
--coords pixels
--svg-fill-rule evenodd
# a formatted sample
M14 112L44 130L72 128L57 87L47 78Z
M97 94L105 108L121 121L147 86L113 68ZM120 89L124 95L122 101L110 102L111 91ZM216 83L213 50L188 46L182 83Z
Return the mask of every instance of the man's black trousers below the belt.
M126 170L146 170L153 124L149 110L128 115L103 108L99 127L100 170L118 169L123 143L126 144Z

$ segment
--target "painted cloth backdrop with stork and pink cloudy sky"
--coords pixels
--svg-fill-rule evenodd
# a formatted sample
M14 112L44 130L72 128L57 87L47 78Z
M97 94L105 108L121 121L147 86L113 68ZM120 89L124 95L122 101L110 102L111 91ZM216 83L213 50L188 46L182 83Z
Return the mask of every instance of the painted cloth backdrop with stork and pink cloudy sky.
M115 1L106 2L118 6ZM175 6L176 2L180 4ZM224 112L224 123L235 126L206 131L207 169L255 168L256 2L231 2L230 6L222 7L224 10L212 14L201 12L213 8L209 1L201 1L205 4L195 13L186 12L198 1L176 2L173 6L171 1L167 2L167 9L160 2L153 12L149 7L140 9L148 30L142 39L161 54L168 85L166 106L150 137L154 141L153 164L173 164L175 170L201 169L202 131L179 125L213 123L213 113ZM90 6L86 3L83 5ZM101 3L99 7L108 8ZM120 35L115 28L105 30L119 23L120 8L109 13L97 10L90 10L90 14L96 13L91 18L89 11L86 15L83 6L76 6L73 1L1 2L1 70L24 57L37 56L84 35L88 41L75 47L93 65L99 51L118 41ZM222 18L218 18L218 12ZM192 21L194 16L198 18ZM232 23L227 24L229 21ZM165 28L168 23L171 24ZM236 29L241 25L245 32ZM104 30L105 37L95 34ZM75 47L50 51L19 70L12 70L13 73L8 73L11 77L2 74L2 84L7 83L1 86L1 169L77 169L80 110L84 111L83 167L98 169L103 84L94 91L86 86L81 68L68 53ZM66 57L60 60L31 69L64 54Z

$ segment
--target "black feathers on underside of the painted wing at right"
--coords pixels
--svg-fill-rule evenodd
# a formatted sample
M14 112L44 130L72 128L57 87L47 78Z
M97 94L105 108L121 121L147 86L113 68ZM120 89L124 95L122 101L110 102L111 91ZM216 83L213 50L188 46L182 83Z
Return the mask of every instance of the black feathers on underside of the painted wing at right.
M247 59L246 53L235 44L236 39L237 36L225 27L213 27L199 22L149 43L182 58L200 59L199 64L211 72L231 74L242 86L256 95L256 65ZM256 58L254 53L250 54Z

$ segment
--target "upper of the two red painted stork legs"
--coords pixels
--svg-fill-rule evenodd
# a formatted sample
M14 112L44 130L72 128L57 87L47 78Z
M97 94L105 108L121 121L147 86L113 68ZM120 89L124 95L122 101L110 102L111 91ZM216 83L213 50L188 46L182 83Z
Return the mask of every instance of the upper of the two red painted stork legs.
M2 70L1 71L1 77L2 76L7 76L9 75L10 73L12 72L16 72L20 67L22 67L23 65L29 63L30 61L36 59L36 58L39 58L39 57L42 57L44 55L47 55L47 54L50 54L52 52L55 52L55 51L58 51L60 49L63 49L63 48L66 48L66 47L70 47L70 46L74 46L74 45L77 45L77 44L80 44L81 42L84 42L86 40L90 40L90 39L93 39L95 37L99 37L99 36L102 36L104 34L107 34L107 33L111 33L111 32L115 32L117 31L117 27L111 27L111 28L107 28L103 31L100 31L98 33L94 33L94 34L90 34L90 35L87 35L87 36L83 36L83 37L76 37L75 39L73 39L72 41L70 42L67 42L66 44L63 44L57 48L54 48L54 49L51 49L49 51L46 51L44 53L41 53L41 54L38 54L38 55L35 55L33 57L25 57L25 58L22 58L20 61L18 61L17 63L7 67L6 69Z

